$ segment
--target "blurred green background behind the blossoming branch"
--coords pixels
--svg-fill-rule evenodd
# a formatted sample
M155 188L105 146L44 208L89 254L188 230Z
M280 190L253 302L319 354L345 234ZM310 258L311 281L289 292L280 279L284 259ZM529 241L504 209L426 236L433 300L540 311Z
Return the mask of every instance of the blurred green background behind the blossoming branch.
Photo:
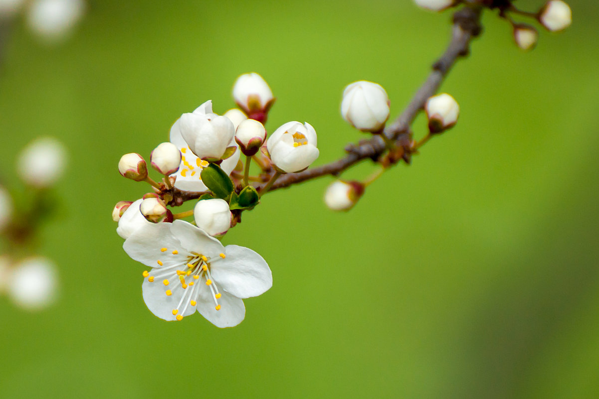
M256 71L278 98L268 130L308 121L316 165L337 159L365 137L339 115L344 86L382 84L399 114L446 46L450 13L405 0L102 0L58 47L17 21L0 70L2 173L39 135L71 157L41 233L60 299L29 313L0 298L0 397L597 398L598 7L570 5L571 28L541 32L531 53L486 13L442 87L458 125L348 214L322 203L331 178L246 212L224 242L262 254L274 285L226 330L147 310L144 266L110 212L149 187L119 176L120 156L148 157L205 100L232 108L235 78Z

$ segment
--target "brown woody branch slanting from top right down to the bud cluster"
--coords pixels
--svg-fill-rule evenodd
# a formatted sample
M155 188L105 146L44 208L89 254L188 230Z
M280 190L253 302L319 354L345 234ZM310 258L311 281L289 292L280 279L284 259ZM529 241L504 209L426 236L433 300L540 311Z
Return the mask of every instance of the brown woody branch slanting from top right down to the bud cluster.
M392 141L403 145L410 130L410 124L423 108L426 99L434 95L441 86L443 78L452 68L459 57L467 56L470 41L478 36L480 27L480 7L463 7L453 14L452 38L440 59L432 65L432 72L425 83L420 86L401 115L390 126L385 128L384 134ZM365 159L378 159L385 153L385 142L379 136L360 142L358 145L350 144L346 147L347 155L340 160L313 167L304 172L288 173L281 176L269 191L289 187L292 184L310 180L325 175L338 175L343 170Z

